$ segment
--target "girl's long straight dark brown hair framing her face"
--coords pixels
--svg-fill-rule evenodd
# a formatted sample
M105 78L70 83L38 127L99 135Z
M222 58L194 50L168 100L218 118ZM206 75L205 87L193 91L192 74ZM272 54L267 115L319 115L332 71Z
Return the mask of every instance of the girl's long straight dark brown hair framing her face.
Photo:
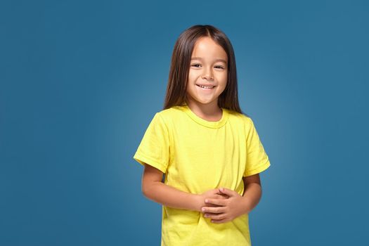
M242 112L238 103L237 72L235 67L235 53L231 41L224 32L212 25L193 25L179 35L171 55L171 66L164 101L164 110L186 103L186 86L190 59L195 42L200 37L210 37L219 44L228 56L228 75L226 89L219 95L218 105L235 112Z

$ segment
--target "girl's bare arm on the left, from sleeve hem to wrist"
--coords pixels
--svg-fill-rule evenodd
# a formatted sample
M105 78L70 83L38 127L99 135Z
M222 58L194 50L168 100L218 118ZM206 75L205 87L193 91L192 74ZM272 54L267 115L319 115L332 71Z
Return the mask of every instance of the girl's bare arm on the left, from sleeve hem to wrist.
M198 195L186 193L162 183L162 176L162 171L145 164L142 192L146 198L167 207L200 211Z

